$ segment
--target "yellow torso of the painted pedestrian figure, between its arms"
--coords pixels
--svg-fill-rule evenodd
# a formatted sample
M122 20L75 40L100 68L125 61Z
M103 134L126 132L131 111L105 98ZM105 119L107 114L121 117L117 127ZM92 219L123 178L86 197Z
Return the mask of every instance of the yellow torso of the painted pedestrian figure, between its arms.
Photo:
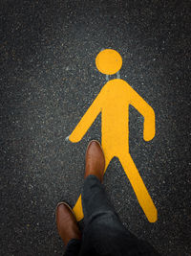
M130 85L126 81L108 81L101 92L102 147L111 156L129 152Z

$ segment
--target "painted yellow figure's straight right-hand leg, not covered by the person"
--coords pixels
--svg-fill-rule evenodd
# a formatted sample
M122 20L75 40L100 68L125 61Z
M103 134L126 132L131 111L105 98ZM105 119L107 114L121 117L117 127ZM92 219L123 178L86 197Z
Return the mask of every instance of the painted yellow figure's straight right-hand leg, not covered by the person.
M155 207L155 204L150 197L144 182L141 178L141 176L138 173L138 169L131 157L131 155L128 153L125 157L119 158L122 167L125 171L125 174L129 178L129 181L136 193L136 196L138 198L138 202L145 213L148 221L155 222L158 220L158 211Z

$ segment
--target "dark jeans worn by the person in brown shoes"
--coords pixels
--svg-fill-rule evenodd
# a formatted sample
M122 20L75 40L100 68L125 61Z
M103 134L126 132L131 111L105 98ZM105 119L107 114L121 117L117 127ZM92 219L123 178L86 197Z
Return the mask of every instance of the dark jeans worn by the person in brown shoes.
M82 207L85 224L82 240L71 240L65 256L159 255L150 244L125 229L95 175L84 181Z

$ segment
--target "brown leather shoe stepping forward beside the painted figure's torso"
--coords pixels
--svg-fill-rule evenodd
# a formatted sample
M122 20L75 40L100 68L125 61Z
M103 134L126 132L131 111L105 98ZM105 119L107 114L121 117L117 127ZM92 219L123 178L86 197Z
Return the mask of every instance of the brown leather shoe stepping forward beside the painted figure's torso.
M103 150L98 141L92 140L86 151L86 168L85 175L96 175L96 177L102 182L103 173L105 169L105 156Z

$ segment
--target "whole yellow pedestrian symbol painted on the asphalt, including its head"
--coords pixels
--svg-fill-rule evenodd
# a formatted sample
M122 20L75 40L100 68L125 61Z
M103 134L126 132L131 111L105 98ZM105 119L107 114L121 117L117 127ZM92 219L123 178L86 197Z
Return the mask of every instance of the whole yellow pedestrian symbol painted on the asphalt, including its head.
M96 56L96 67L105 75L116 74L121 66L122 58L115 50L105 49ZM112 158L117 156L148 221L155 222L158 220L157 209L129 153L129 105L133 105L144 117L144 140L152 140L155 136L153 108L121 79L107 81L94 103L74 128L69 140L80 141L101 112L101 144L106 158L105 171ZM83 219L81 196L74 205L74 214L77 221Z

